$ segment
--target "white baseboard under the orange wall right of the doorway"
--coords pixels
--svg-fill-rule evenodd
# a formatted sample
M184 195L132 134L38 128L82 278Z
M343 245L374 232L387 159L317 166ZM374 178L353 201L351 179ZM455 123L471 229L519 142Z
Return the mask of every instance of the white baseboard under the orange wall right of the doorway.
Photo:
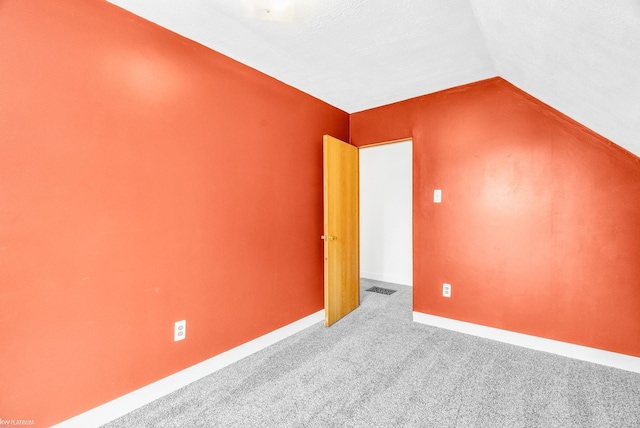
M433 327L457 331L459 333L479 336L485 339L496 340L498 342L522 346L524 348L535 349L537 351L550 352L552 354L562 355L563 357L640 373L640 358L631 355L618 354L616 352L603 351L601 349L559 342L557 340L530 336L528 334L515 333L465 321L424 314L422 312L413 312L413 321L428 324Z

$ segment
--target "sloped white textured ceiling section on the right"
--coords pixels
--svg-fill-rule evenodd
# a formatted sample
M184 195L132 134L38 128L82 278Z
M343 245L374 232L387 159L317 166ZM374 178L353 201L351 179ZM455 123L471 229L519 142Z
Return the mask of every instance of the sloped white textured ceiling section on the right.
M496 72L640 155L640 0L471 0Z

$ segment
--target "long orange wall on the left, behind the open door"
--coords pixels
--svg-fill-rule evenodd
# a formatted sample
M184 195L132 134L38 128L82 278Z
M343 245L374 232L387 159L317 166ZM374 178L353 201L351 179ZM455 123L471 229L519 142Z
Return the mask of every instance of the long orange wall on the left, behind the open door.
M3 419L49 426L322 309L345 112L102 0L3 1L0 40Z

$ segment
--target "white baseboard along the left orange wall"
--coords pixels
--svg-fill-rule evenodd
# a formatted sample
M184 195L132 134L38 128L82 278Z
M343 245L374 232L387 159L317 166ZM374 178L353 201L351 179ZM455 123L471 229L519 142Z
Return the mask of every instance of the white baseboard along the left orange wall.
M86 428L99 427L133 410L151 403L173 391L176 391L198 379L210 375L236 361L254 354L267 346L273 345L289 336L292 336L305 328L324 321L324 309L305 318L281 327L277 330L260 336L250 342L244 343L220 355L181 370L164 379L149 384L138 390L109 401L101 406L81 413L71 419L54 425L52 428Z

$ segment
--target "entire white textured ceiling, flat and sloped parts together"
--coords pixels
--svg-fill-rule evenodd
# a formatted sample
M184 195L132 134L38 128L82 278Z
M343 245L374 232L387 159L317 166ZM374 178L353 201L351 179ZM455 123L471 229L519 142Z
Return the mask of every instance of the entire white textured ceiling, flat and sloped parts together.
M108 0L353 113L502 76L640 155L640 0Z

